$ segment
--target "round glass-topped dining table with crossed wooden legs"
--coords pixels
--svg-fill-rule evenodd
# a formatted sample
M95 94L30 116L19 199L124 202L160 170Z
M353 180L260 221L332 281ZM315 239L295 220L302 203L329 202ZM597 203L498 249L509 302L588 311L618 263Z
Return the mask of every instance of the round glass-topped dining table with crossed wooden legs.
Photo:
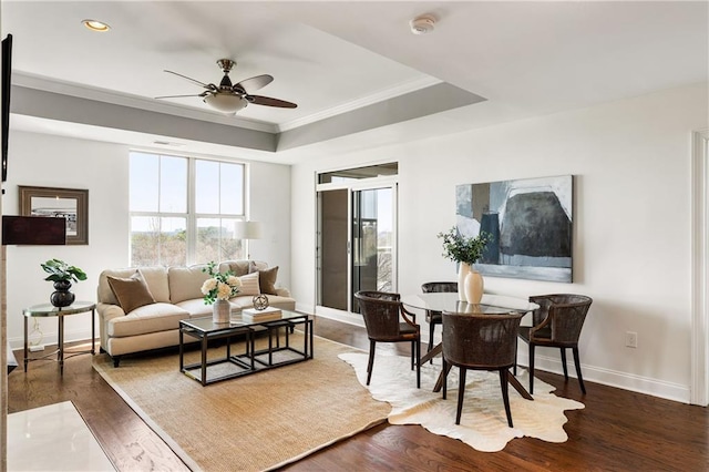
M451 311L456 314L471 315L505 315L505 314L526 314L533 311L540 306L525 298L511 297L507 295L483 294L480 304L469 304L459 298L458 293L430 293L403 295L401 302L408 308L415 308L430 311ZM443 343L439 342L425 356L421 358L421 365L433 359L443 351ZM439 376L433 391L438 392L443 387L443 371ZM527 400L534 400L530 392L520 383L512 372L507 372L507 381L522 397Z

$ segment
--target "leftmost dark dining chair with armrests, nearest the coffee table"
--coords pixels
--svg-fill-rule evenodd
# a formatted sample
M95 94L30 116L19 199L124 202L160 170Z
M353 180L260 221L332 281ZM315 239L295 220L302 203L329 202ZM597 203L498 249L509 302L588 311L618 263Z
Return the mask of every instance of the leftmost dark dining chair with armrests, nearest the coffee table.
M415 315L403 307L399 294L358 291L354 298L369 338L367 384L372 378L377 342L411 342L411 370L417 369L417 388L421 388L421 327Z

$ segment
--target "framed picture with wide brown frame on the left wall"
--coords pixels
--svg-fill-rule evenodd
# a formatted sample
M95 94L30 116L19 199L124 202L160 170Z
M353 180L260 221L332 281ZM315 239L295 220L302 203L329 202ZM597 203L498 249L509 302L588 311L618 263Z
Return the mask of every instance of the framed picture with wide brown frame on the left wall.
M89 191L19 186L20 215L66 219L66 244L89 244Z

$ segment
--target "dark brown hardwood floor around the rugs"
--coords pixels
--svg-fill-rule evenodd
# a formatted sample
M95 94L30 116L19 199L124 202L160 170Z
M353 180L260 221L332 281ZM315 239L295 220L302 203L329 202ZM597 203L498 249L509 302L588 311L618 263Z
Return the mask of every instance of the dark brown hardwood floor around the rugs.
M363 329L318 318L316 334L366 349ZM397 349L384 347L382 349ZM402 351L404 353L404 351ZM316 352L317 356L317 352ZM91 368L90 356L20 367L8 381L9 411L71 400L120 471L187 470L127 404ZM709 411L627 390L538 371L556 394L586 408L567 411L568 441L512 440L501 452L477 452L418 425L372 428L286 466L288 471L707 471ZM238 381L238 380L237 380ZM513 413L514 414L514 413ZM453 419L451 419L453 421ZM40 451L38 451L39 453ZM225 470L228 470L226 468Z

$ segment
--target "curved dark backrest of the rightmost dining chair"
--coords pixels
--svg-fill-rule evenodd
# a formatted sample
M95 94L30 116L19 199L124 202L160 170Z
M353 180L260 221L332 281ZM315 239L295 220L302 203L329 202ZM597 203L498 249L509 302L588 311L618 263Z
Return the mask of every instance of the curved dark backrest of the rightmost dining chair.
M586 314L593 302L590 297L576 294L535 295L530 297L530 301L540 306L532 315L535 326L551 317L553 342L578 342Z

